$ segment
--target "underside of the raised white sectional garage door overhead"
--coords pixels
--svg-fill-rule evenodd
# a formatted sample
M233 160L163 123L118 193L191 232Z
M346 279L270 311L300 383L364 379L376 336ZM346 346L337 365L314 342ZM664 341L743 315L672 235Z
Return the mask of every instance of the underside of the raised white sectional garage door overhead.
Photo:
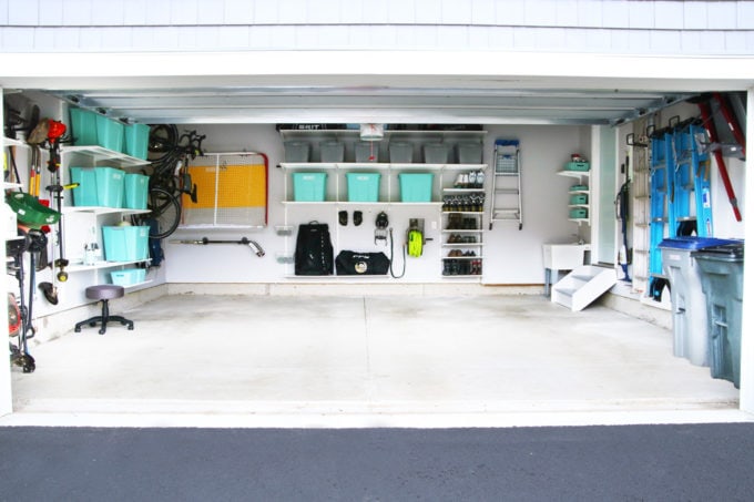
M54 94L141 123L609 124L661 109L680 92L496 90L475 86L215 86L68 89Z

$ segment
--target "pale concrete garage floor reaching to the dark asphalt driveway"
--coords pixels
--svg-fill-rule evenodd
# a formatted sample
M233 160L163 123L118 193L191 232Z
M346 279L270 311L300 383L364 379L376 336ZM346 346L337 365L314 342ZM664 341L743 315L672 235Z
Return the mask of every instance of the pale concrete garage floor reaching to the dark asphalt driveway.
M672 332L541 296L171 295L33 348L2 424L506 427L748 421Z

